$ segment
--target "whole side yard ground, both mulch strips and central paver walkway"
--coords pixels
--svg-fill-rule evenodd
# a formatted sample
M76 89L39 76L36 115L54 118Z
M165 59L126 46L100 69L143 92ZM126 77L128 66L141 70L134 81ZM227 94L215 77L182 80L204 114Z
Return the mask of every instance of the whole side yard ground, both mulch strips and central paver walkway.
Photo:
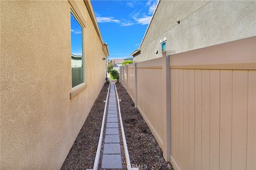
M108 87L108 84L103 86L61 169L93 169ZM116 88L121 99L122 122L131 166L139 169L172 169L172 165L165 162L162 150L147 123L138 109L134 108L129 94L119 83L116 83ZM114 84L110 85L107 106L98 168L126 169Z

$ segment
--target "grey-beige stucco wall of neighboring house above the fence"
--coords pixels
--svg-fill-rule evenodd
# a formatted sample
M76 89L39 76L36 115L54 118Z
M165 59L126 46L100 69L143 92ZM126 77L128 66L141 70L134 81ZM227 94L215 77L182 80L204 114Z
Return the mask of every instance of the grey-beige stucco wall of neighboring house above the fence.
M255 1L162 0L134 61L161 57L159 40L164 37L166 50L180 53L255 36L255 16Z

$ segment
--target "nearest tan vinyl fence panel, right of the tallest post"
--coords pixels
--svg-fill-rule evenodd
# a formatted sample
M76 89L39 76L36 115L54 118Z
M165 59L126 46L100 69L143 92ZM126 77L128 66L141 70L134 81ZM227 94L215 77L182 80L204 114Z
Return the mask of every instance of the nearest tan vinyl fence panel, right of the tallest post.
M175 169L255 169L255 37L170 55Z

